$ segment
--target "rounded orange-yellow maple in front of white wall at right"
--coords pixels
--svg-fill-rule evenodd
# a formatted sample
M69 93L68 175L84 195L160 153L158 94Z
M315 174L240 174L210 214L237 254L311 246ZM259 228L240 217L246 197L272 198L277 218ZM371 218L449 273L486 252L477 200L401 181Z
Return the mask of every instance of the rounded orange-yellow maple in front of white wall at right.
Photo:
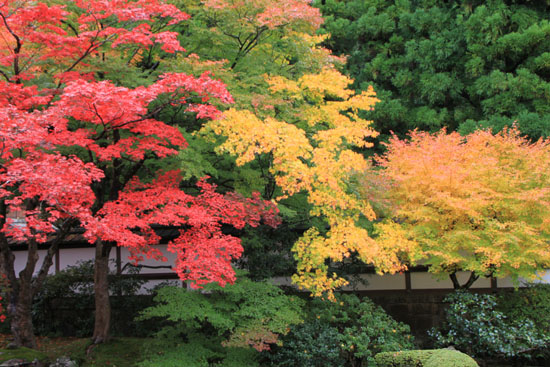
M479 276L524 277L550 265L550 141L509 129L467 136L413 131L393 137L379 163L393 184L382 246L449 274L456 288ZM469 271L464 284L457 271Z

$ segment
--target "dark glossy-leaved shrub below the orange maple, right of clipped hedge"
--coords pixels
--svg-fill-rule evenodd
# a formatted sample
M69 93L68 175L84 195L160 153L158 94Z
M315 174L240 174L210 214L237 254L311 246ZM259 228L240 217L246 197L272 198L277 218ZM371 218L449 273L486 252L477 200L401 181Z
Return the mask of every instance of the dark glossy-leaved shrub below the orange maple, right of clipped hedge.
M452 345L471 356L510 358L549 341L531 320L512 320L498 311L493 295L460 291L445 301L450 305L444 325L429 332L437 347Z

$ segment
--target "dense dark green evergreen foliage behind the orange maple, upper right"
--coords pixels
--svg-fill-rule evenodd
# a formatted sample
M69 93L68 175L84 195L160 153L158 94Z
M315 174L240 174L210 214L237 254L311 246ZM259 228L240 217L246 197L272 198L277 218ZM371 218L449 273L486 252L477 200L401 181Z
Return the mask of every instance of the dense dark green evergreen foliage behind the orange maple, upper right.
M355 86L381 102L368 118L390 131L499 131L516 121L550 135L546 1L326 0L326 45L348 55Z

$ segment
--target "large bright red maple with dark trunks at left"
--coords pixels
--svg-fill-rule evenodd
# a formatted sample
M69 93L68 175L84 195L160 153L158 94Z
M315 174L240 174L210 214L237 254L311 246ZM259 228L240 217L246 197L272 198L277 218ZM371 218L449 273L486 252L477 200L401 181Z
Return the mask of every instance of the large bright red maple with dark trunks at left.
M213 101L232 102L221 82L177 73L137 88L99 81L106 57L124 57L129 65L155 45L167 53L183 50L168 27L185 19L158 0L0 2L0 270L10 282L17 345L35 347L33 295L75 229L96 248L93 341L99 343L109 336L112 246L130 248L136 260L158 258L152 245L160 238L152 226L180 228L169 245L180 277L199 286L225 284L234 280L230 261L242 248L222 224L277 224L276 208L258 196L222 195L205 180L199 195L189 195L177 171L151 179L149 162L186 146L178 127L159 114L181 106L198 119L216 117ZM19 209L25 225L9 218ZM48 247L37 269L40 243ZM19 274L14 245L28 250Z

